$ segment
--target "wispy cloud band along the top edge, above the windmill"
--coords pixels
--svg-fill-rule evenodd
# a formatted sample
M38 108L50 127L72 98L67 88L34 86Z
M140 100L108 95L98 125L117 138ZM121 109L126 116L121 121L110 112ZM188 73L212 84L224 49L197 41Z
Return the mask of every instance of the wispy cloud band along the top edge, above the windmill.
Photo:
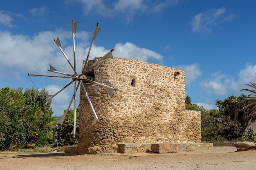
M74 3L74 0L66 2ZM178 0L158 0L148 2L147 0L115 0L112 3L106 3L103 0L76 0L83 5L85 13L94 12L102 16L125 14L125 21L131 22L137 13L159 13L169 7L175 7Z

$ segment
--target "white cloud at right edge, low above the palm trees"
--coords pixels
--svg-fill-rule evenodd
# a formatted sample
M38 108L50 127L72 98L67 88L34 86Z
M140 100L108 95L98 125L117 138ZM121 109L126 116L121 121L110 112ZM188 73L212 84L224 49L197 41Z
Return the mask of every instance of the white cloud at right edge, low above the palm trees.
M239 71L238 81L235 81L231 75L220 74L220 72L212 74L210 79L200 83L207 94L215 95L239 95L243 88L248 88L245 84L256 82L256 65L247 64L245 69Z

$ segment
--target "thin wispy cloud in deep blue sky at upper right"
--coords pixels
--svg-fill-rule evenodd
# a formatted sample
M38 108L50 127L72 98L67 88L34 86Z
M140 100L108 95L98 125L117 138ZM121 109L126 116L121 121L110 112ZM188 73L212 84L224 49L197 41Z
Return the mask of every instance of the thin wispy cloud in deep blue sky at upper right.
M220 27L222 22L228 22L236 17L235 14L229 14L225 7L220 9L210 9L204 13L198 13L191 20L191 29L194 32L211 33L214 27Z

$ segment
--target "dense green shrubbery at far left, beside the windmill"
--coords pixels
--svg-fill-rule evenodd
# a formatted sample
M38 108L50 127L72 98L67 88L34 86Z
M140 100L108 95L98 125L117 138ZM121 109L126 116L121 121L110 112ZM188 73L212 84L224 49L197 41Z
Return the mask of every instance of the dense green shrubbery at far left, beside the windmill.
M0 150L9 148L11 144L48 144L47 132L54 121L52 109L43 105L42 96L46 92L38 91L37 95L30 95L29 92L33 91L27 89L23 94L21 88L0 90ZM31 100L27 97L29 95L33 96Z

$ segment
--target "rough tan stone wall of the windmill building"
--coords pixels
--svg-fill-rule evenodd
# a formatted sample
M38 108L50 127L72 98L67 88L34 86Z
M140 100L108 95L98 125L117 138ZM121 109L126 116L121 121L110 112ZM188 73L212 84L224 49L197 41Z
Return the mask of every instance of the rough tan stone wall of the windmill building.
M106 88L84 83L100 122L92 125L92 109L81 89L78 154L115 152L120 143L201 141L201 113L185 110L184 71L114 58L102 60L87 75L116 91L110 97Z

